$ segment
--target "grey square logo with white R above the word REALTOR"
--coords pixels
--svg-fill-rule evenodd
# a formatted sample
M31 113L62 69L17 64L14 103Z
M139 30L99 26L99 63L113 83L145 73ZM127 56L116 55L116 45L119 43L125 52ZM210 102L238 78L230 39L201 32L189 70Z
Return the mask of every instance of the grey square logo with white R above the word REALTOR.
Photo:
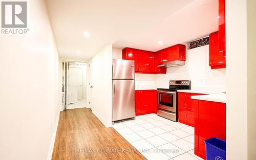
M27 2L2 2L2 28L27 28Z

